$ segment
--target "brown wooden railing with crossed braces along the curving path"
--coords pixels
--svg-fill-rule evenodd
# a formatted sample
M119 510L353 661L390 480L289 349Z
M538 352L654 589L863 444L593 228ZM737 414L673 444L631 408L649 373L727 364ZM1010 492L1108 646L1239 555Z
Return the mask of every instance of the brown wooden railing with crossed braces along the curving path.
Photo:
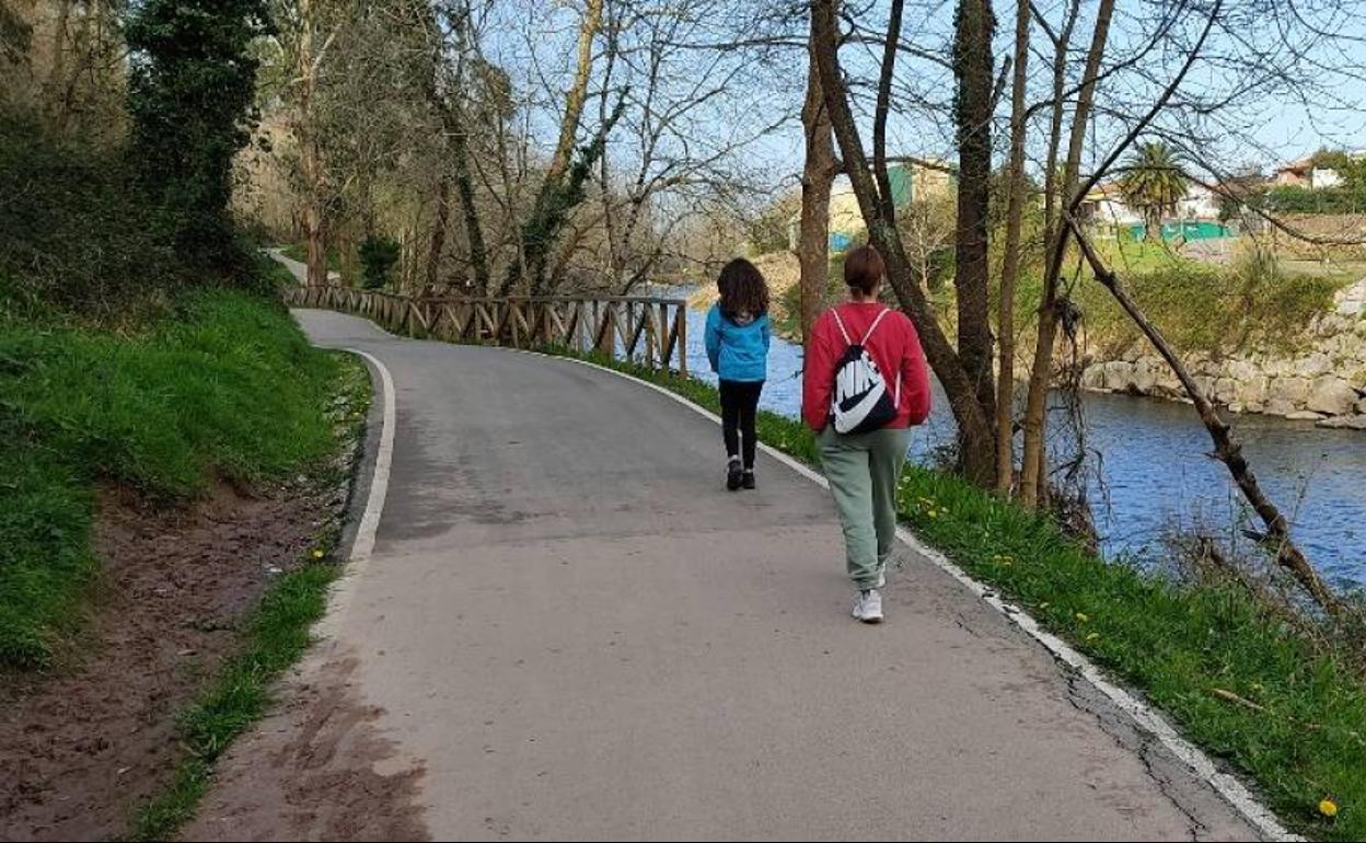
M351 287L291 287L291 307L340 310L393 333L512 348L624 355L687 374L687 302L646 296L413 298Z

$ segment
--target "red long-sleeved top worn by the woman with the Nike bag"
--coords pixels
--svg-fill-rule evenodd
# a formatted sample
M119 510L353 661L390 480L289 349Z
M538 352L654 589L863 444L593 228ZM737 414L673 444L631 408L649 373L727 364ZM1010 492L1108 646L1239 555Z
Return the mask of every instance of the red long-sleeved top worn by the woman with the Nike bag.
M867 333L873 320L887 305L878 302L847 302L839 305L840 320L856 343ZM813 430L824 430L831 417L831 392L835 389L835 365L848 344L833 310L826 310L811 328L811 342L806 350L802 372L802 418ZM887 378L887 388L896 389L896 376L902 376L902 400L896 418L888 428L910 428L930 414L930 378L925 368L925 351L915 325L900 310L887 314L867 340L867 351L877 370Z

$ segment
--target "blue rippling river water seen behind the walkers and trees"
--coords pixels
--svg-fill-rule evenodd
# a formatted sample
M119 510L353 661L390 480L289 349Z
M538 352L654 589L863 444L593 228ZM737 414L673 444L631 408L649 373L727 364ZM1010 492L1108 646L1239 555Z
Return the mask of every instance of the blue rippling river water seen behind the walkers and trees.
M706 314L688 313L688 370L712 383L703 347ZM773 337L769 378L759 404L796 417L802 404L802 348ZM1139 560L1162 552L1173 526L1239 536L1255 522L1223 463L1206 456L1209 433L1182 403L1127 395L1083 396L1091 467L1091 506L1108 556ZM1329 579L1366 586L1366 433L1328 430L1269 415L1233 417L1249 462L1266 493L1292 514L1294 536ZM936 385L934 410L915 430L912 459L928 460L953 439L953 418ZM1250 526L1259 526L1251 523Z

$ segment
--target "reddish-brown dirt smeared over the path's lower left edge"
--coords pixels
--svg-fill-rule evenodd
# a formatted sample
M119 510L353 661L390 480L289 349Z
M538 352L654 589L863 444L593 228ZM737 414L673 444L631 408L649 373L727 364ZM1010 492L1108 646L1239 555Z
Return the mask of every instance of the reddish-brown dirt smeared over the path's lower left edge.
M322 645L280 710L219 761L186 840L426 840L422 762L403 758L357 698L355 659Z

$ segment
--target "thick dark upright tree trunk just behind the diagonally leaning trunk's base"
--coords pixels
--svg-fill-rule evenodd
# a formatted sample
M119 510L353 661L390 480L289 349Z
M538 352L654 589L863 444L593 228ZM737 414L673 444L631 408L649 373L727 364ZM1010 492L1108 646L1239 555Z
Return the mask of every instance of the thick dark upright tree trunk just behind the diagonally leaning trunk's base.
M953 44L958 98L958 225L953 238L958 290L958 357L988 417L994 417L988 254L988 205L992 178L990 0L959 0ZM994 445L992 459L996 459Z

